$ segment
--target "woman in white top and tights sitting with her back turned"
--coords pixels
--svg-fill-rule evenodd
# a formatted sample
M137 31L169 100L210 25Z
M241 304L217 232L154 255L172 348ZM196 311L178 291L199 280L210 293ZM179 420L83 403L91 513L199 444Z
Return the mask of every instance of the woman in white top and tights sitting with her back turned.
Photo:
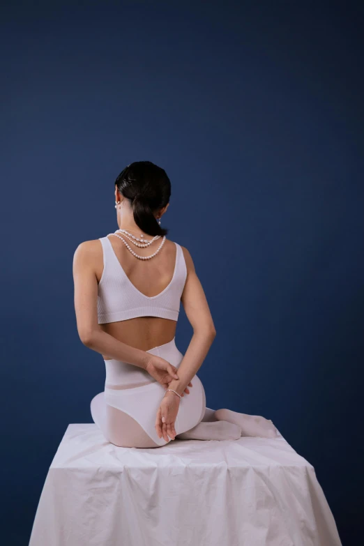
M91 401L94 422L108 441L135 448L275 437L271 420L206 408L197 371L215 327L190 253L160 227L171 195L165 170L134 162L114 193L119 229L81 243L73 260L79 338L106 367L105 391ZM175 343L180 302L193 329L184 355Z

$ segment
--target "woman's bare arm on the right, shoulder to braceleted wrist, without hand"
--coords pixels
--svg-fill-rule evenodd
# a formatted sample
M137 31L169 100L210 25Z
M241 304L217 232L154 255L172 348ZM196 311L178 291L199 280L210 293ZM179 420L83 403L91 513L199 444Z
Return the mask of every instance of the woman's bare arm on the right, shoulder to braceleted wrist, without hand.
M179 379L173 379L169 385L169 388L173 388L179 394L183 393L199 370L216 335L204 289L197 277L190 252L183 247L183 254L187 266L187 278L181 301L193 328L193 335L178 368ZM176 396L173 393L169 395Z

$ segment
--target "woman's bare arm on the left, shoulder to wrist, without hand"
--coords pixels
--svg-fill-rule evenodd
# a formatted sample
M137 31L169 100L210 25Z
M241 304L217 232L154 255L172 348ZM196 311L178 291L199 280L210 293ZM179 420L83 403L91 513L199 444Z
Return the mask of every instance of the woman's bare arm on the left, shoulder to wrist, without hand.
M75 312L79 338L86 347L146 370L150 354L123 343L104 332L98 325L98 281L95 264L100 259L100 242L80 243L73 257Z

